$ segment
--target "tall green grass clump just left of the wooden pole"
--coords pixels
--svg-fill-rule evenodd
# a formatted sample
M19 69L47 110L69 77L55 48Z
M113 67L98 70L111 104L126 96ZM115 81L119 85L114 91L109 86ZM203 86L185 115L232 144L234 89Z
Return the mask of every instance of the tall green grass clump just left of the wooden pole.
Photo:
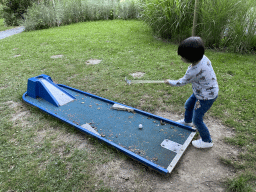
M145 0L142 19L162 38L180 41L190 35L194 0Z

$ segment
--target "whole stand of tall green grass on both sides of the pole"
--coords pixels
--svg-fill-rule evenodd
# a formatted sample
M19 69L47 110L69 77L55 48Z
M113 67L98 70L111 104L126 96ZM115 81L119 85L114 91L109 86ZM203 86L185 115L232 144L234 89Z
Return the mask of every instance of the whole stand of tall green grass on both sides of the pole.
M195 0L142 0L142 18L162 38L191 36ZM196 35L207 47L234 52L256 50L254 0L201 0Z

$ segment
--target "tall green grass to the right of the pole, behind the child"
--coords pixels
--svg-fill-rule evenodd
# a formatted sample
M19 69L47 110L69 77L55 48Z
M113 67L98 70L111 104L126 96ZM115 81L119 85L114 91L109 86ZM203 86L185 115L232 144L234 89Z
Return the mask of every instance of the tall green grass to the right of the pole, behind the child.
M201 5L199 33L211 48L248 52L255 36L256 14L250 1L204 0Z

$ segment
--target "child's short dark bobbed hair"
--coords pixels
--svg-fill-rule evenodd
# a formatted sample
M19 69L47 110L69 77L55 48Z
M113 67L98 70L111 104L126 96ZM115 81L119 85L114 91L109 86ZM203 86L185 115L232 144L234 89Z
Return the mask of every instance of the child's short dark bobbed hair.
M183 40L178 48L178 55L191 63L200 61L204 56L204 43L200 37L189 37Z

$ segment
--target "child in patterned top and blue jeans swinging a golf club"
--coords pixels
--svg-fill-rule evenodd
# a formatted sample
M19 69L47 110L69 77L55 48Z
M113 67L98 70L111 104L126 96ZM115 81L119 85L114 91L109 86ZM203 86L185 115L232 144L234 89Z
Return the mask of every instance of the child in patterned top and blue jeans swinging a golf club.
M213 142L208 128L203 122L204 114L211 108L218 96L218 83L211 61L204 55L204 45L200 37L190 37L181 42L178 55L185 63L191 63L186 74L179 80L165 80L171 86L192 83L193 94L185 103L185 117L178 123L196 126L201 139L192 142L196 148L210 148Z

